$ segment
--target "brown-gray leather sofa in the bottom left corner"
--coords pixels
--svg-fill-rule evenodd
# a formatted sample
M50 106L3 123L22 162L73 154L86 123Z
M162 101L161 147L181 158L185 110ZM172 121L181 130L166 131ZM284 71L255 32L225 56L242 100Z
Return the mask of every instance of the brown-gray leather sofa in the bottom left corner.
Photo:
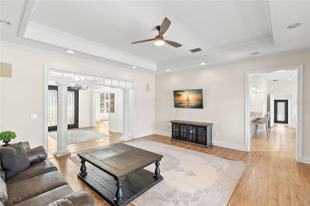
M74 192L46 160L44 147L1 147L0 206L93 206L86 191Z

